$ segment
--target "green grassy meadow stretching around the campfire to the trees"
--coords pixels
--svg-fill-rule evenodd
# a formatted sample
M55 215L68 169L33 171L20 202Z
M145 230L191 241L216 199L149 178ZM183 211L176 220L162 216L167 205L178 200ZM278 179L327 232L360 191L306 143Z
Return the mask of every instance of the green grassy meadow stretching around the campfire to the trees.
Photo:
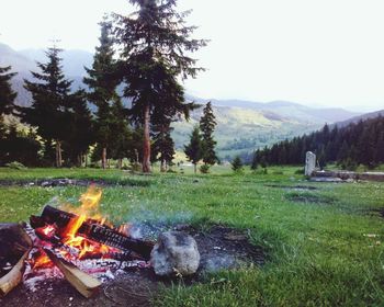
M207 175L0 169L0 180L67 177L127 184L104 189L101 209L117 224L219 223L249 229L251 241L267 251L262 268L176 285L154 302L158 306L384 306L384 219L374 212L384 208L384 183L310 183L297 169L238 175L226 167ZM0 187L0 220L26 220L52 196L77 202L84 190ZM211 283L219 277L227 282Z

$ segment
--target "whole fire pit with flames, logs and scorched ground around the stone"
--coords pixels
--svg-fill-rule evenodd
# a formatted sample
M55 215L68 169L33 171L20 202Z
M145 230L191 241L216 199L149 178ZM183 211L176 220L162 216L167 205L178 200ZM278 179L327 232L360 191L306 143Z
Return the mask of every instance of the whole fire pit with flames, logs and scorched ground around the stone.
M185 285L204 282L206 271L264 261L262 249L248 241L249 230L221 225L207 230L206 225L199 229L156 220L114 227L99 214L100 198L101 190L91 186L80 197L80 207L49 202L29 224L0 224L0 305L19 307L27 300L30 306L42 302L57 306L66 300L69 306L115 306L116 302L147 306L158 283L169 281L155 274L150 257L154 238L170 230L193 237L199 247L199 270L187 280L183 276ZM176 250L190 241L178 234L174 240ZM156 246L160 245L158 240ZM174 271L180 277L180 270ZM18 284L22 286L12 291ZM89 299L81 300L74 289ZM103 295L95 295L100 289Z

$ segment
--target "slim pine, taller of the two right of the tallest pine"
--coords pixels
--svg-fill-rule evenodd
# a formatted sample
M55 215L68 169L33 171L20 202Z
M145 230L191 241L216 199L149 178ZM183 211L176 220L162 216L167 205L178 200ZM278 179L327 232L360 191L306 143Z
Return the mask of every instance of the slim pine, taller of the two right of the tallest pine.
M216 121L213 114L211 101L203 110L203 116L200 118L200 129L202 132L202 151L205 166L213 166L217 161L215 152L216 141L213 138Z

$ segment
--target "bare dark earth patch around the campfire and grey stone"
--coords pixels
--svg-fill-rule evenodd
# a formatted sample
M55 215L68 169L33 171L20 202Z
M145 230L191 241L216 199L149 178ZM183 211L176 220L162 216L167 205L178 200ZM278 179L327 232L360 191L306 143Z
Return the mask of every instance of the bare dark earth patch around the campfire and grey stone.
M169 229L190 234L199 246L201 265L193 277L183 281L187 285L201 283L207 271L233 269L247 263L257 265L264 263L262 249L251 245L247 234L237 229L217 225L204 231L190 225L167 227L147 224L136 227L136 231L140 231L144 237L154 237ZM117 274L114 280L104 282L95 297L86 299L65 280L46 280L36 285L35 292L21 284L7 297L0 298L0 306L149 306L158 288L162 285L169 286L172 282L177 281L159 278L151 269L135 268Z

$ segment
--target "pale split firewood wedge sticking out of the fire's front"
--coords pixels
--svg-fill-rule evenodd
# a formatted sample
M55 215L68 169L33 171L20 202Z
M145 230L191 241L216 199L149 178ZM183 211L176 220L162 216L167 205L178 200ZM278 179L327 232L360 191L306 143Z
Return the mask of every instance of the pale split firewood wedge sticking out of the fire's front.
M75 264L66 261L48 249L44 249L49 259L63 272L66 280L84 297L89 298L94 295L101 282L91 275L80 271Z

